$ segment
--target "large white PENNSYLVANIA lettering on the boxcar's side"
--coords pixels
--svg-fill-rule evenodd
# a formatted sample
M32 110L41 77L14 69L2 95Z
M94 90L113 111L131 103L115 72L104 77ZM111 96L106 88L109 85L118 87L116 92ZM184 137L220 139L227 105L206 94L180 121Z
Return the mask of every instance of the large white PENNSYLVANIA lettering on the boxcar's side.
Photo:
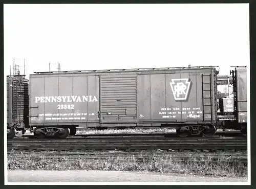
M98 102L96 96L58 96L58 97L35 97L35 103L54 102Z

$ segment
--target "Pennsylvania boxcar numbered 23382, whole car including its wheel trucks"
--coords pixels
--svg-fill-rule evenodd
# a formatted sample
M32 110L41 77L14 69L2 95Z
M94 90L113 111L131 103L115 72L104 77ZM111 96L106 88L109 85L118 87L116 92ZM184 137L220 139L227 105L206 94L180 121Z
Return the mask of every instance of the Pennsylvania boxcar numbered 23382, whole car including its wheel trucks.
M66 137L79 126L174 126L185 135L216 131L214 67L40 73L30 75L30 96L30 126L37 136Z

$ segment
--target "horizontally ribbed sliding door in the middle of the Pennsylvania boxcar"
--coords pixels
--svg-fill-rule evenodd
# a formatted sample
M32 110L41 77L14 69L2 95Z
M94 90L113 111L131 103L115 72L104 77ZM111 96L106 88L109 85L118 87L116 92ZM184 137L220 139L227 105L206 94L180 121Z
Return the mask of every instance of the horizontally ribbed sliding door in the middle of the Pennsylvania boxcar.
M100 76L100 122L134 123L137 120L137 75Z

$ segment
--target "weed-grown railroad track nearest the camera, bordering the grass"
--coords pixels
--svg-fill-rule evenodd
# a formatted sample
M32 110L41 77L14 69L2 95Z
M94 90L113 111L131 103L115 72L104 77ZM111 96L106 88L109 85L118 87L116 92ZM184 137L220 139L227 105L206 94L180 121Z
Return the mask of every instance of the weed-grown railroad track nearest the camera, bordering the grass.
M239 160L243 162L247 162L247 152L173 152L173 151L165 151L165 150L143 150L143 151L46 151L46 152L28 152L28 151L9 151L8 157L17 157L22 156L26 159L32 160L42 160L42 159L65 159L65 160L78 160L78 159L86 159L86 160L94 160L94 159L118 159L118 160L137 160L137 161L146 161L154 158L160 159L172 159L179 161L206 161L206 160L214 160L214 161L227 161L227 160Z

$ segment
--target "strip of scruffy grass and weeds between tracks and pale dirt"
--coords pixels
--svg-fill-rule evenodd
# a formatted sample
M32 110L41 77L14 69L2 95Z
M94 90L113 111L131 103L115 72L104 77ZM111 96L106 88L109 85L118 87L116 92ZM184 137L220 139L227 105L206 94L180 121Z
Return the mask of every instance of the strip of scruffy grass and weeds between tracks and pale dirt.
M228 177L246 177L247 162L237 158L219 156L218 161L209 155L205 161L188 156L186 161L173 158L172 155L157 156L152 152L147 158L126 155L106 156L101 159L62 157L50 159L40 154L33 158L32 154L12 153L8 157L9 170L106 170L106 171L148 171L160 173L185 173L197 175L216 175Z

